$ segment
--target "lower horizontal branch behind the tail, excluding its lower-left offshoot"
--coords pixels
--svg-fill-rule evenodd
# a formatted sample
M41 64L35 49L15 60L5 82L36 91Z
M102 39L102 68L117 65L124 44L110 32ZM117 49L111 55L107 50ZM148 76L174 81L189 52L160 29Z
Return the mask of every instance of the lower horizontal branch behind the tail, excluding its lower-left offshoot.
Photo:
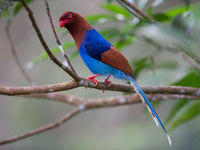
M51 101L62 102L73 106L84 105L85 109L89 108L101 108L101 107L114 107L121 105L130 105L141 103L141 99L137 94L120 95L106 98L93 98L87 99L82 97L75 97L63 93L47 93L47 94L33 94L30 95L34 98L43 98ZM182 95L182 94L146 94L150 101L167 100L167 99L185 99L185 100L197 100L200 96Z

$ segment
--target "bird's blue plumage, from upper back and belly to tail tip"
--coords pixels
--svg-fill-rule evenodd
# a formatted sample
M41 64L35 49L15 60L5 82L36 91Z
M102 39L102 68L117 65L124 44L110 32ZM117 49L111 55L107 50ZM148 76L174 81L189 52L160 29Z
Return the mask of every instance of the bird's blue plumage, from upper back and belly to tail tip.
M100 74L103 76L108 76L109 74L111 74L114 76L114 78L130 81L131 85L134 87L141 100L147 105L149 113L154 118L157 126L160 124L160 126L164 130L165 134L167 135L169 144L171 145L171 139L168 136L163 123L159 119L156 111L154 110L148 98L139 87L139 85L136 83L136 81L131 76L125 74L121 70L100 61L101 55L104 52L109 51L111 46L112 45L107 42L96 30L92 29L86 32L86 36L79 48L79 53L87 67L94 74Z

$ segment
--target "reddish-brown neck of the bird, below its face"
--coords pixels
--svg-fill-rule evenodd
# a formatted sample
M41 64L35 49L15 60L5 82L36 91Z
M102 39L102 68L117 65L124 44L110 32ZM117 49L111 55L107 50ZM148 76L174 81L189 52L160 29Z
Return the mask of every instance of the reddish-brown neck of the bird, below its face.
M87 31L92 29L88 22L78 22L66 28L74 38L78 50L85 38Z

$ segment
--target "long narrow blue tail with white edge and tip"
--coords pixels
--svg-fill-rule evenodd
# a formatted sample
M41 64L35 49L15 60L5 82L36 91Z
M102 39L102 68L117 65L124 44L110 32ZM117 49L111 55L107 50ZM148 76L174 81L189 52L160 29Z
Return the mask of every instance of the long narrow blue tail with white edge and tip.
M150 115L152 116L152 118L154 119L154 121L156 122L156 125L159 127L162 127L163 131L165 132L169 145L172 145L171 139L167 133L167 130L165 129L162 121L160 120L160 118L158 117L156 111L154 110L153 106L151 105L151 103L149 102L148 98L146 97L146 95L144 94L144 92L142 91L142 89L139 87L139 85L137 84L137 82L129 75L127 75L127 77L129 78L129 81L131 83L131 85L133 86L134 90L136 91L136 93L139 95L140 99L142 100L142 102L144 104L146 104L148 111L150 113Z

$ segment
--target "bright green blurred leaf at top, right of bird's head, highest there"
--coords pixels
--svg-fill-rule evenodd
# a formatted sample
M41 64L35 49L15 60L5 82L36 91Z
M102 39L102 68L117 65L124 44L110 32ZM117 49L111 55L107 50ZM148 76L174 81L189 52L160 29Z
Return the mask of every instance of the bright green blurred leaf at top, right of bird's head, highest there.
M125 18L132 18L131 14L122 6L115 5L115 4L102 4L101 7L114 14L121 14Z

